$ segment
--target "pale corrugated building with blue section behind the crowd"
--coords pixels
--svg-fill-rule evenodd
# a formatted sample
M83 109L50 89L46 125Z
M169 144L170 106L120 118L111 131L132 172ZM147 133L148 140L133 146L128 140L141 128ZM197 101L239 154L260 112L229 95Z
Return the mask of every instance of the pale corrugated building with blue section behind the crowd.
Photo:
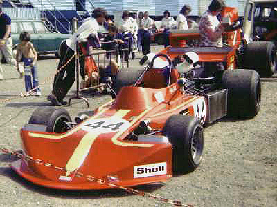
M224 0L227 6L238 8L243 16L245 0ZM105 8L109 15L122 10L147 10L155 20L161 20L164 10L177 16L184 4L192 8L190 15L195 19L206 11L211 0L4 0L5 12L12 19L43 19L46 24L62 33L70 33L73 17L89 17L96 7Z

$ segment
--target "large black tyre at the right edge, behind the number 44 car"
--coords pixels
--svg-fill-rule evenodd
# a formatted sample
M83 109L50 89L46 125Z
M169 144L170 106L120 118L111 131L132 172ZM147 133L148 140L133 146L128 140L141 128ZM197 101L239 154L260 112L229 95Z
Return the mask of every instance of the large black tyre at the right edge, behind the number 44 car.
M276 70L276 46L270 41L254 41L244 50L244 68L256 70L261 77L271 77Z

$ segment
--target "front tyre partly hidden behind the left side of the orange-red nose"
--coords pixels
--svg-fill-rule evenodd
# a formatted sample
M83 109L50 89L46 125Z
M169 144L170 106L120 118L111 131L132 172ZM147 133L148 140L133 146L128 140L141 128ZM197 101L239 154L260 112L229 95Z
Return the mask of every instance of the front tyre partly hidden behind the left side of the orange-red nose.
M33 112L28 124L46 125L46 132L63 133L67 130L65 121L71 122L71 117L64 108L41 106Z

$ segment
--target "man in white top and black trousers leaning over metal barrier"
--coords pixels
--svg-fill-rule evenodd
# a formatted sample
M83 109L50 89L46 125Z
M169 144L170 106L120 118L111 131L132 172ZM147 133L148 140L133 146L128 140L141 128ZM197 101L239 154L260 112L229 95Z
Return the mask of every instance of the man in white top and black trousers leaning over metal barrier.
M60 62L57 70L60 70L60 68L75 54L76 43L82 43L82 45L87 46L86 48L91 48L91 46L93 48L100 48L98 31L100 30L100 25L104 23L106 16L107 11L104 8L96 8L93 10L91 17L84 19L84 22L75 34L62 43L60 48ZM84 64L84 59L80 59L80 65L82 66L82 64ZM64 77L65 73L66 76ZM67 102L64 101L64 97L66 97L74 81L75 61L71 59L71 61L55 75L52 93L48 95L47 100L51 101L54 106L66 105Z

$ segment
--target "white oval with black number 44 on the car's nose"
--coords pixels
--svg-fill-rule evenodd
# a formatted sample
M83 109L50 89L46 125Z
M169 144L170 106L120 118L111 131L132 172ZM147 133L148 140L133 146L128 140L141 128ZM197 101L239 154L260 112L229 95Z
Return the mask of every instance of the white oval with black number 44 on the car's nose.
M86 121L84 126L82 126L82 130L87 132L98 132L100 134L118 132L126 130L129 128L130 123L125 119L121 119L119 117L111 117L111 118L102 118L102 119L91 119Z

